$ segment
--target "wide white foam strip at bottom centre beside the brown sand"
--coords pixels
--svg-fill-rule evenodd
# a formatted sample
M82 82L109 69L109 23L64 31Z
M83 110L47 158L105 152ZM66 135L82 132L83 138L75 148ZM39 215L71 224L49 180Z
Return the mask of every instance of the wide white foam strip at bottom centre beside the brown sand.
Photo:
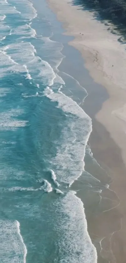
M97 251L87 230L83 203L73 191L69 191L62 201L56 203L56 229L62 231L57 246L59 263L96 263Z

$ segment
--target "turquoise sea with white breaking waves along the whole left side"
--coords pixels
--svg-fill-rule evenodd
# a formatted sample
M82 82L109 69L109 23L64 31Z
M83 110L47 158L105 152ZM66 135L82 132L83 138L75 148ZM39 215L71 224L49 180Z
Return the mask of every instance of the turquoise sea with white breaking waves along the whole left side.
M51 37L61 33L44 0L0 1L1 263L97 261L70 190L92 122L73 79L58 75L63 44Z

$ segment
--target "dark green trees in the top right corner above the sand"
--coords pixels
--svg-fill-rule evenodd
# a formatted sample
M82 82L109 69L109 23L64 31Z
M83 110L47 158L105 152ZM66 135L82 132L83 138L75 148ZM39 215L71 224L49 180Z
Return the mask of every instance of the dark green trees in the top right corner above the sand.
M74 0L75 4L97 10L102 18L126 25L126 0Z

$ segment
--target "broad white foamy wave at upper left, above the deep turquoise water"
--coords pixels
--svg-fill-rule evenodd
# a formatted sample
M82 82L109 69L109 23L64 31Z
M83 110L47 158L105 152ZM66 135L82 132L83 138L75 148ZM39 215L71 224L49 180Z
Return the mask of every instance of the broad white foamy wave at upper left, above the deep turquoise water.
M7 51L5 51L7 50ZM21 56L22 50L22 56ZM27 72L26 77L31 80L35 77L38 81L42 81L44 85L53 85L56 77L53 68L48 62L42 60L35 55L36 49L30 42L21 42L10 44L1 51L1 65L6 65L0 70L0 76L4 76L7 72ZM10 60L12 63L10 63ZM18 66L16 66L16 65ZM8 66L8 67L7 67Z

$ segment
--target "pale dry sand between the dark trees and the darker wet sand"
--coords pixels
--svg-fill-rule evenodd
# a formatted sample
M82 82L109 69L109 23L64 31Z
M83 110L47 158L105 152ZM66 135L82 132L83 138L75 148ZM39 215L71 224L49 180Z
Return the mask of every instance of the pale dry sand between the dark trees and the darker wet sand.
M118 36L111 34L109 31L107 31L107 26L95 20L88 11L80 10L79 5L72 6L72 1L68 3L66 0L63 0L59 3L58 0L47 0L47 2L49 3L50 8L55 13L57 12L58 20L63 23L63 27L64 29L66 29L66 32L63 34L68 36L74 36L74 39L68 44L81 52L82 57L84 59L84 66L86 67L86 69L88 69L89 75L93 78L94 82L102 85L107 89L109 98L103 102L102 109L95 115L95 118L98 120L98 122L103 124L103 126L110 133L115 143L122 150L123 161L126 165L126 147L124 147L122 140L118 140L119 136L116 136L116 134L113 132L114 126L114 128L117 129L118 133L123 135L123 141L125 141L126 135L122 134L121 131L124 131L124 129L126 129L126 125L124 124L124 122L126 121L126 76L124 67L126 66L126 45L120 45L120 43L117 41ZM67 12L65 13L64 11L66 11L66 7ZM75 15L77 17L77 21L73 21ZM88 29L83 29L82 22L87 22L86 28ZM90 29L91 32L86 31L86 33L84 34L85 29L87 31L89 31ZM98 37L96 38L95 33L97 33L98 29L101 30L103 34L100 35L99 33L99 38L101 36L104 36L104 39L102 39L102 41L99 41ZM80 35L80 31L83 32L83 36L82 33ZM92 39L91 33L95 35L95 39ZM107 43L104 43L104 41L107 38L109 46L107 46L107 48L103 50L103 47L101 49L100 45L105 44L106 46ZM116 47L114 50L114 54L111 55L113 44L116 45ZM98 48L99 50L97 50ZM106 50L108 51L108 54L105 54L106 56L102 56L102 51ZM119 55L117 52L118 50ZM117 56L115 57L115 63L112 63L113 61L111 60L111 56L114 57L114 55L116 54ZM111 61L111 63L110 61L108 61L108 59ZM116 63L117 59L118 65ZM110 65L107 65L107 62ZM123 62L123 64L121 64L121 62ZM112 67L113 64L114 66ZM107 122L107 120L103 120L103 112L105 112L105 110L107 110L107 112L110 114L112 113L111 125L109 122ZM120 127L118 128L118 126Z

